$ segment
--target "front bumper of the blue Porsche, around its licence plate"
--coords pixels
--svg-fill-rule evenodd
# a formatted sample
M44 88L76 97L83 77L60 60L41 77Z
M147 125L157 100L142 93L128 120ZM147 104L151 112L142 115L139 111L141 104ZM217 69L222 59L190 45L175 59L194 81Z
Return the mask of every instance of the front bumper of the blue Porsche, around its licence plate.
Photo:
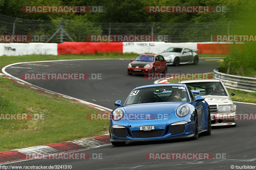
M172 114L164 119L110 121L110 141L149 141L194 136L193 114L189 114L185 117L173 115L171 119L170 117L172 117ZM140 130L140 126L155 126L155 129Z

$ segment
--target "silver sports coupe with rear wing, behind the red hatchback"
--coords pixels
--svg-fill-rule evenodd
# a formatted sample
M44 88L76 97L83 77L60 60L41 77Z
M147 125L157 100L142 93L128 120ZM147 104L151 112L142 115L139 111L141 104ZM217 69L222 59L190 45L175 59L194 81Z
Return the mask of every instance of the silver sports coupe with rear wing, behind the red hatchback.
M184 47L170 47L159 54L164 56L166 64L178 66L179 64L188 63L198 64L199 58L197 51L198 49L192 50Z

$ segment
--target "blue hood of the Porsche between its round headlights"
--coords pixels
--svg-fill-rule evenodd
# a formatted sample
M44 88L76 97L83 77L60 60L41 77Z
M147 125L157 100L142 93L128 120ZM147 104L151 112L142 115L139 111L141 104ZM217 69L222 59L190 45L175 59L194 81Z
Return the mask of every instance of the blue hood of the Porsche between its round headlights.
M184 103L187 102L140 103L125 105L123 108L126 112L125 116L130 120L157 119L167 117Z

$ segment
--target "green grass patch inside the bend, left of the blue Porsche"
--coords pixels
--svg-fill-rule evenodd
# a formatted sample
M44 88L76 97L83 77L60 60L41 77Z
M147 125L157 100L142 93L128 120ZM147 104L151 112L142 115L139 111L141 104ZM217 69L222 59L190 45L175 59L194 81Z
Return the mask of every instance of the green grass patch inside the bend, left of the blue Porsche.
M0 120L0 151L102 135L108 120L88 120L104 113L73 100L36 91L0 77L0 113L44 114L45 120Z

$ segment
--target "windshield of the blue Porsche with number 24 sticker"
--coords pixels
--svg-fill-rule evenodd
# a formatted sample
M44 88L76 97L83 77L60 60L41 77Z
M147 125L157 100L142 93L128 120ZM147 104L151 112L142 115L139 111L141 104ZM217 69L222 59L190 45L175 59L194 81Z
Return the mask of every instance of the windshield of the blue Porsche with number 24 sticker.
M189 101L186 88L158 86L136 89L131 92L124 105L167 101Z

